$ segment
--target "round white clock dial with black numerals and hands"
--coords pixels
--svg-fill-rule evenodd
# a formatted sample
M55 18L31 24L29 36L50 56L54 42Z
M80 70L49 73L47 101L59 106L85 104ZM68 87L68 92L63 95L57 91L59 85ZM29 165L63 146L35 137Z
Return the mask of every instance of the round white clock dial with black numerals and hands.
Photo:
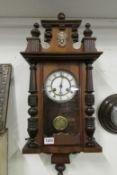
M48 76L44 89L51 100L62 103L75 96L78 86L70 72L58 70Z

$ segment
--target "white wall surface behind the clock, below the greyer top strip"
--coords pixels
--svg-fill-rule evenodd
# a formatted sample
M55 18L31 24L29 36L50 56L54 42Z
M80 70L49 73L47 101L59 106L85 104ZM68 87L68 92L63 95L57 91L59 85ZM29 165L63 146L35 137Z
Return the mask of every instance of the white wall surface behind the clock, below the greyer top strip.
M9 128L9 175L55 175L50 155L23 155L21 153L27 135L27 95L29 67L20 55L26 48L32 24L37 18L0 18L0 63L13 66L8 108ZM103 55L94 64L94 87L96 109L108 95L117 92L117 21L84 19L90 22L97 37L97 49ZM81 31L82 30L82 31ZM80 33L83 32L81 27ZM97 115L97 111L96 111ZM71 155L64 175L116 175L117 135L107 133L96 118L95 137L103 147L103 153L80 153Z

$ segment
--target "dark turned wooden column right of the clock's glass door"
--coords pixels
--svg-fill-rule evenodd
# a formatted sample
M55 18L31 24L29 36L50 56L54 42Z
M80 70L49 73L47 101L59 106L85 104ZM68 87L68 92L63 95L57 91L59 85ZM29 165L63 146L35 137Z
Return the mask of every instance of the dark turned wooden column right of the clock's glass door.
M95 118L92 116L95 112L94 110L94 90L93 90L93 78L92 78L92 64L86 64L86 94L85 94L85 113L86 113L86 135L87 135L87 143L86 146L95 146L95 139L93 137L95 131Z

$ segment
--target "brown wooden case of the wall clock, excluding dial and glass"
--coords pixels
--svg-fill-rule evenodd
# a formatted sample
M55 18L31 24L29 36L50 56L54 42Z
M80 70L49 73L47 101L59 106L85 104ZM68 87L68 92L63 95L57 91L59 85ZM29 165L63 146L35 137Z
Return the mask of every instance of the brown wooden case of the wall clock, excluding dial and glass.
M51 162L56 164L55 168L59 175L63 174L65 163L70 163L70 153L102 151L102 147L94 138L95 117L93 117L93 114L95 110L93 107L94 89L92 79L93 62L100 57L102 52L95 48L96 38L92 37L93 32L89 23L85 25L80 48L75 49L73 47L74 43L79 42L78 28L81 22L79 19L66 20L63 13L59 13L57 20L41 20L41 25L45 29L44 41L49 44L49 48L42 47L40 26L35 23L31 30L32 36L27 38L26 50L21 52L21 55L30 65L28 96L30 117L28 118L27 129L29 138L27 138L23 153L38 154L43 152L52 154ZM57 38L58 34L60 35L59 38ZM64 40L62 44L58 41L59 39L61 42L61 37ZM61 68L73 72L80 84L79 124L76 123L79 126L80 134L79 138L75 138L60 132L52 136L54 138L53 143L44 144L44 122L46 122L44 108L49 105L49 103L46 103L46 106L44 106L45 95L42 91L45 81L44 71L45 74L49 75L53 70ZM77 71L74 72L74 70ZM53 108L51 106L51 113L53 111L55 111L54 106Z

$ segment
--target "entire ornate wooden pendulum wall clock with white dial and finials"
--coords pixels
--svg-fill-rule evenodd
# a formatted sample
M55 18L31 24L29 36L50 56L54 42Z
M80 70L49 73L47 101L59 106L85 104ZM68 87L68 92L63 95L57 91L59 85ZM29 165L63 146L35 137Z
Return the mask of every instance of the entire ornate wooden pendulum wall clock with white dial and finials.
M73 47L80 24L66 20L63 13L57 20L42 20L49 47L42 47L36 23L21 52L30 65L29 139L23 153L50 153L59 175L70 163L70 153L102 151L94 138L92 80L92 64L102 52L95 48L89 23L81 47Z

